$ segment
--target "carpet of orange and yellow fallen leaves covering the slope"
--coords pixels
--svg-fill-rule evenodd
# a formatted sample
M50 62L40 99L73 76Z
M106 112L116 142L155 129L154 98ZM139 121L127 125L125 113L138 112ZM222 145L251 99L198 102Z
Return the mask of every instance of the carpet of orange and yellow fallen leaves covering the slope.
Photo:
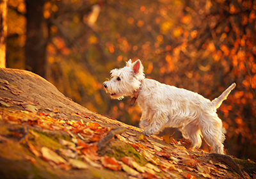
M189 145L189 141L187 140L177 142L170 134L163 137L145 137L143 134L138 135L132 130L125 131L123 129L119 134L113 132L112 127L103 127L96 122L52 118L51 114L60 113L60 110L46 108L44 110L48 112L41 112L42 108L35 100L13 101L10 98L0 98L2 107L9 107L5 104L9 102L12 105L21 105L26 111L0 108L1 119L6 123L63 131L70 136L68 140L58 139L58 143L63 146L58 150L47 146L41 146L38 149L29 140L26 140L28 150L35 155L35 157L27 157L32 164L35 164L36 157L40 157L49 162L52 167L64 170L88 169L89 167L105 168L112 171L124 171L128 176L135 178L228 177L228 167L225 164L205 160L208 154L202 150L188 150L186 147ZM109 132L111 132L110 137ZM35 137L35 140L39 137L34 130L29 130L29 133ZM13 136L22 137L22 134L13 132ZM108 154L100 156L98 153L99 143L107 140L104 142L104 147L108 147L108 143L111 143L112 139L131 145L147 160L147 163L145 165L138 164L133 157L129 156L121 159L109 157ZM200 160L202 157L204 162Z

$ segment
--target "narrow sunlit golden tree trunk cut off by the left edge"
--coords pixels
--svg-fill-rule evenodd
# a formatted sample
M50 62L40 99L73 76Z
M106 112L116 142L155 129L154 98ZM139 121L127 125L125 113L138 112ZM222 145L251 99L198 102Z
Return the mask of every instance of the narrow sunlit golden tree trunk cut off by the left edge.
M5 68L6 36L7 36L7 0L0 0L0 68Z

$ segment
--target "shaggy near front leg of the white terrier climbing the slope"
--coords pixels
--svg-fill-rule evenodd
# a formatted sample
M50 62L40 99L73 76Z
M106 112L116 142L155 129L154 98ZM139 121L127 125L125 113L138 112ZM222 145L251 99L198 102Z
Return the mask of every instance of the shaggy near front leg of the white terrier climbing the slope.
M159 134L159 132L164 129L166 120L167 120L166 115L164 115L163 113L160 113L160 112L154 113L152 120L149 120L151 122L142 120L143 123L140 122L141 123L140 125L145 125L145 124L149 123L149 125L147 125L147 127L144 128L144 131L142 132L142 134L144 136L151 136L152 134Z

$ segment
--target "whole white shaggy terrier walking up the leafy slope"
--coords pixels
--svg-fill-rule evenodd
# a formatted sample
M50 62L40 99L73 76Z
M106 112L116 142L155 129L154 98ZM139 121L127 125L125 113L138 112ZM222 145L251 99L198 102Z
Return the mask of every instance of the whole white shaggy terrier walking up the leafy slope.
M124 68L111 70L111 80L104 82L104 87L111 98L131 96L132 104L137 99L143 135L158 134L164 127L179 127L182 136L191 140L191 148L199 148L204 137L212 152L223 154L226 131L216 109L236 83L211 102L198 93L145 79L140 59L134 63L130 59Z

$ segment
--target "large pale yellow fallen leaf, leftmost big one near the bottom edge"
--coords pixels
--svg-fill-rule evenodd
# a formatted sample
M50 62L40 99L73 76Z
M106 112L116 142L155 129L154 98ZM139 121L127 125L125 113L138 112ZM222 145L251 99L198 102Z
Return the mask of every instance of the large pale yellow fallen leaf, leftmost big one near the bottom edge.
M66 160L60 157L60 155L45 146L42 147L41 152L44 160L51 160L55 164L66 163Z

